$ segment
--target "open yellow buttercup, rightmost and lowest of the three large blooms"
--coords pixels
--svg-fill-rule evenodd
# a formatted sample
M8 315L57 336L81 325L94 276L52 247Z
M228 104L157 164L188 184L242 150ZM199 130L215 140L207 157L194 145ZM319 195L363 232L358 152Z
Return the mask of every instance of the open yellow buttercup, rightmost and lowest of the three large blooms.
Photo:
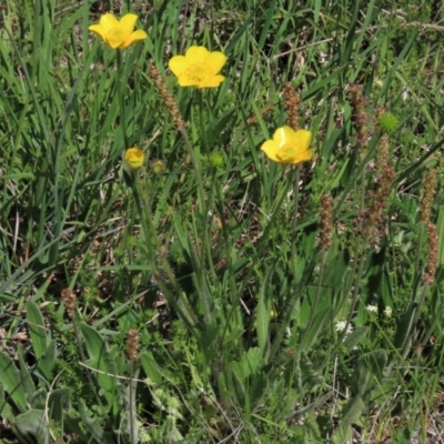
M274 162L297 165L313 157L311 140L311 131L282 127L274 132L273 140L262 143L261 150Z

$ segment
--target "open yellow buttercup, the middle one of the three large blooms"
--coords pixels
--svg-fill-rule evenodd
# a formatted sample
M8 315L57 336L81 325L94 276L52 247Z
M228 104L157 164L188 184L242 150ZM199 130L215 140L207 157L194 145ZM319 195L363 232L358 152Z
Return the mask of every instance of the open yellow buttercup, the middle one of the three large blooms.
M181 87L218 88L225 80L219 74L225 62L226 56L220 51L191 47L185 56L174 56L168 65Z

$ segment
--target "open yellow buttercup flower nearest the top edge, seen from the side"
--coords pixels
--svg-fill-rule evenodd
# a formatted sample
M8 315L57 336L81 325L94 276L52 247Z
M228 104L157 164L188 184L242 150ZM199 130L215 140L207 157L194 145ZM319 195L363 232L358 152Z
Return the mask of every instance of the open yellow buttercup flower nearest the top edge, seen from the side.
M112 49L124 49L130 44L147 39L145 31L134 31L138 16L128 13L120 21L110 12L100 18L99 24L91 24L89 30L98 34Z

